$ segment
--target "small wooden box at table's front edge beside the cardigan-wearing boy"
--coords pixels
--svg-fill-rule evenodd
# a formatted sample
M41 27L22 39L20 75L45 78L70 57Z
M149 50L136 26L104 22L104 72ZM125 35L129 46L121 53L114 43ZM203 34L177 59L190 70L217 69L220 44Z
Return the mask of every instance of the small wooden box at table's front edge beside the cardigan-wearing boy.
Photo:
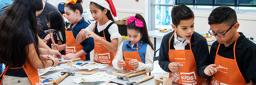
M172 85L172 79L162 76L154 79L154 85L159 85L160 83L163 85Z

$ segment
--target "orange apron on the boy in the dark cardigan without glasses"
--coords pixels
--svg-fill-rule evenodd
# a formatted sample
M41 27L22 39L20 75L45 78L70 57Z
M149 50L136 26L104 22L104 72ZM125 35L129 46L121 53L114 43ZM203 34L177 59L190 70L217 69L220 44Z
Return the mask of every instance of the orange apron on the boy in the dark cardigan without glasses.
M175 34L175 32L173 33L173 35ZM183 66L180 67L180 69L176 73L170 72L169 78L172 78L173 82L183 85L202 85L202 83L205 82L206 79L197 75L197 66L193 52L191 50L190 39L190 50L173 50L170 49L170 41L172 37L169 40L169 61L182 63Z

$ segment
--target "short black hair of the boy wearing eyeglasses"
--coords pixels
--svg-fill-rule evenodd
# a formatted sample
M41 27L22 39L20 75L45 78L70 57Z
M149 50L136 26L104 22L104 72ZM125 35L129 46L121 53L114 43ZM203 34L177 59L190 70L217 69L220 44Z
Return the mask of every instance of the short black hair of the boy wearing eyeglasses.
M208 17L208 24L218 24L224 22L227 26L232 26L237 22L236 11L227 6L220 6L212 10Z

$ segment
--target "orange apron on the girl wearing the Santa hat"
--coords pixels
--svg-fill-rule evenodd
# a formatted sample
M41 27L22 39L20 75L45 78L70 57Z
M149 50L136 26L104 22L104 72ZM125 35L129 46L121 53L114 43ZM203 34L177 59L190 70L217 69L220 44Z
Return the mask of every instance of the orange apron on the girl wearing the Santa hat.
M96 23L96 25L97 24L98 24L98 22ZM95 30L95 26L94 26L94 30ZM103 28L104 28L104 26L103 26ZM93 32L94 32L94 30L93 30ZM103 30L103 34L104 34L103 39L106 40L104 30ZM94 59L93 59L93 61L113 66L112 60L114 58L115 58L115 53L112 53L106 47L104 47L98 40L94 39Z

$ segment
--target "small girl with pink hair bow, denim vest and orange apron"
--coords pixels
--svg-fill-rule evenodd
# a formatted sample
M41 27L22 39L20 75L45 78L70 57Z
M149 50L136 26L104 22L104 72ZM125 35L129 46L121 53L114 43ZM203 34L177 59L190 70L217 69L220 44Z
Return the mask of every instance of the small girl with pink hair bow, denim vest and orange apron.
M113 59L115 69L126 69L134 72L151 72L154 68L154 45L151 43L147 32L146 23L140 14L131 16L127 20L127 41L121 43ZM147 75L145 73L145 75Z

